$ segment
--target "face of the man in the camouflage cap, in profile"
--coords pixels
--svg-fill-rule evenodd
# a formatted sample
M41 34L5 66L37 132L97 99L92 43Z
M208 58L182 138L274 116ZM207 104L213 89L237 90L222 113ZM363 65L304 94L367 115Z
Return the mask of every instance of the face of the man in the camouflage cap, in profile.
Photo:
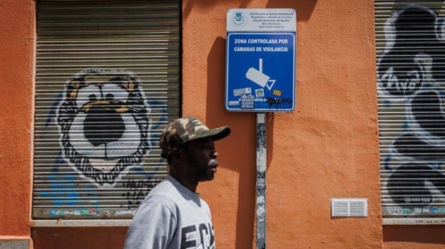
M190 181L210 181L215 177L218 154L211 139L196 139L187 142L184 147L185 173Z

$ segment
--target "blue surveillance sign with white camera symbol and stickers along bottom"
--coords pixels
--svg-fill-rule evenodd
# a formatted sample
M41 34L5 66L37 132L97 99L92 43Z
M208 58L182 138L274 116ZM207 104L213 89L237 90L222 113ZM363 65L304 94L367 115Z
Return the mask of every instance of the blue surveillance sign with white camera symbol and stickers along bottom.
M295 109L295 33L227 33L225 108Z

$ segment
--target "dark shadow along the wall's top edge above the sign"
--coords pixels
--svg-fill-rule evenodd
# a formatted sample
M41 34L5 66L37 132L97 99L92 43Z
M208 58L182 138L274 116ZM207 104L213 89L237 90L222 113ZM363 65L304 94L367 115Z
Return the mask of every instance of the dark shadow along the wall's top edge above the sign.
M194 6L199 6L200 8L207 8L211 6L215 6L218 4L218 2L226 3L227 0L189 0L183 6L183 20L187 20L188 16L190 15L190 11L192 11ZM244 8L258 8L261 9L259 6L255 6L253 4L250 4L254 2L253 0L241 0L241 1L233 1L234 4L232 4L232 7L230 8L238 8L238 9L244 9ZM236 5L238 4L239 5ZM307 0L307 1L295 1L295 0L270 0L267 1L266 6L264 8L267 9L295 9L297 11L297 21L307 21L309 20L312 11L314 10L315 4L317 4L317 0Z

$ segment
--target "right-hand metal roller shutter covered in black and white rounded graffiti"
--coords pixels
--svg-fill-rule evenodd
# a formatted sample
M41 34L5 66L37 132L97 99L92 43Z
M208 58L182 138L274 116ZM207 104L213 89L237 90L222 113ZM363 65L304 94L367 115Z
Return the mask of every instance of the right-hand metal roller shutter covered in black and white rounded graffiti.
M443 223L445 4L374 4L383 218Z

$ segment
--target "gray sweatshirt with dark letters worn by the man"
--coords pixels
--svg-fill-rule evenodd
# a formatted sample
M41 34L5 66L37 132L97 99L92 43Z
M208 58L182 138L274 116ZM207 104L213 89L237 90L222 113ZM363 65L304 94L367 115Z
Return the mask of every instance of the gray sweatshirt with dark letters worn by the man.
M155 186L136 211L124 249L215 249L208 204L172 176Z

